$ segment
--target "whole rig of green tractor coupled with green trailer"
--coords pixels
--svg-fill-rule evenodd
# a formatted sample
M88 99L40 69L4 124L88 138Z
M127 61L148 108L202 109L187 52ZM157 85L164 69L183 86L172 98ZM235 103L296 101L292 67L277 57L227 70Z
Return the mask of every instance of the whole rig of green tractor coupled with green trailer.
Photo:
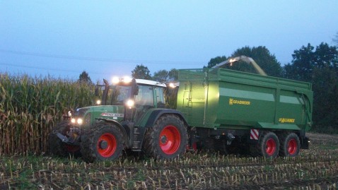
M101 105L69 112L49 133L49 152L88 162L122 152L173 159L187 150L294 157L308 148L310 83L228 69L179 71L177 109L165 108L166 85L141 79L104 80ZM178 90L177 90L178 88ZM124 151L128 150L128 151Z

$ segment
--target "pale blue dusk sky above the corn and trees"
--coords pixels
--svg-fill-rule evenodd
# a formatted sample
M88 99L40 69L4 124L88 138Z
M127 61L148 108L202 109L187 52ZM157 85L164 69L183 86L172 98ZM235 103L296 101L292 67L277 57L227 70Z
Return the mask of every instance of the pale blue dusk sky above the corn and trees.
M137 64L198 69L245 46L267 47L283 66L303 45L334 45L337 10L336 0L0 0L0 73L96 81Z

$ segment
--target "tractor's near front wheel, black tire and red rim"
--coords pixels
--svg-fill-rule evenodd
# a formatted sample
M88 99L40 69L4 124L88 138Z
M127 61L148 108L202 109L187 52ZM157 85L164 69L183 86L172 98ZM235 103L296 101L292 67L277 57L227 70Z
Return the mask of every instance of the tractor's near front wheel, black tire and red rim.
M95 124L81 136L81 154L86 162L115 160L120 158L123 148L123 133L114 124Z

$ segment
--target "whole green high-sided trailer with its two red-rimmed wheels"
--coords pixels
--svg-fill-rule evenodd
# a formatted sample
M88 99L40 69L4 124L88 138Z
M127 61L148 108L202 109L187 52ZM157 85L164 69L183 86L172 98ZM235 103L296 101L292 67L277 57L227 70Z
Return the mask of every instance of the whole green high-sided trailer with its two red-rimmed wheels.
M184 69L179 81L177 110L204 146L225 152L249 148L267 157L308 148L310 83L229 69ZM267 142L260 142L264 136Z

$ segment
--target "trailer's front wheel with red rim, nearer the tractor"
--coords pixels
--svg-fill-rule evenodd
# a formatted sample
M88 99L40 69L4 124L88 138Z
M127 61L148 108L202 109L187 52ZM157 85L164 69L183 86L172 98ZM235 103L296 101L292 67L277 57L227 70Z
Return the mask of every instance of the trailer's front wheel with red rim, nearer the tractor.
M250 152L252 156L276 158L279 155L279 139L275 133L264 131L257 145L250 147Z

